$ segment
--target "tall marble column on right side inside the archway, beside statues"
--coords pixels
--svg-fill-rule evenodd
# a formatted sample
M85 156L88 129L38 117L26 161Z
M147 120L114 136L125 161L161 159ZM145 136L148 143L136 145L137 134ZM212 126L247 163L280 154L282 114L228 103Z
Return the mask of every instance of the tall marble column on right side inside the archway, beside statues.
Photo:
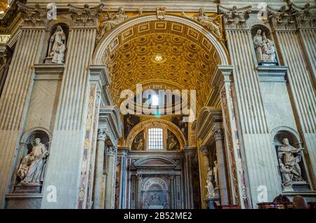
M213 126L212 133L216 144L216 158L218 163L218 187L220 189L220 203L222 205L229 204L228 200L228 184L227 184L227 170L225 159L225 146L223 129L220 126Z

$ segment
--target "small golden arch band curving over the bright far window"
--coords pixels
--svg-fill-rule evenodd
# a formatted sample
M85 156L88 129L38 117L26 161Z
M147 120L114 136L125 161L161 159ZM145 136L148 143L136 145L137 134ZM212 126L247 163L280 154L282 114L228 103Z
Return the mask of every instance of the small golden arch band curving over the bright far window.
M126 147L131 148L131 145L136 135L140 133L140 131L144 130L147 126L152 126L155 123L159 123L159 125L162 125L164 128L170 130L174 135L176 135L180 143L180 148L183 148L187 144L183 133L181 133L178 126L173 124L171 121L166 121L164 119L147 119L145 121L138 123L136 126L132 128L131 132L126 137L126 141L125 141Z

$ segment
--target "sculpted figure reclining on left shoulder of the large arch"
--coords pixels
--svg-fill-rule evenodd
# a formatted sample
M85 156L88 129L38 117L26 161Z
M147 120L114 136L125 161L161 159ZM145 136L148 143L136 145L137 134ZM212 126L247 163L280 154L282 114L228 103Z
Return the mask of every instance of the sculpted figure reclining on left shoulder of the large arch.
M127 20L128 18L130 18L130 16L125 15L124 7L119 7L119 10L116 14L110 14L110 12L107 11L107 16L104 17L105 21L102 22L100 25L101 32L98 36L98 39L100 40L106 32L110 31L111 29L119 25L119 23L123 22L124 20Z

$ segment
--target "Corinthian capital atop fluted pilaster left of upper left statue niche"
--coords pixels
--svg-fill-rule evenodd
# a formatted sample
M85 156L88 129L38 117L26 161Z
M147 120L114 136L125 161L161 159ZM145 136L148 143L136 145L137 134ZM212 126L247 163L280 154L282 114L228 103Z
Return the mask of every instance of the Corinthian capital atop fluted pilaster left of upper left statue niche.
M25 25L40 26L45 25L47 20L47 9L41 8L39 4L33 6L27 6L20 2L18 4L18 11L20 11L22 19Z

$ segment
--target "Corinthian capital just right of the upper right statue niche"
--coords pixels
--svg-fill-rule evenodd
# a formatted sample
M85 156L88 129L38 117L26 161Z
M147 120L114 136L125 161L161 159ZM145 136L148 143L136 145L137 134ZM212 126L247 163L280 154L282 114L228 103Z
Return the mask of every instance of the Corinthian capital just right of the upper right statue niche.
M275 30L296 30L293 8L282 6L279 10L268 6L268 19Z

